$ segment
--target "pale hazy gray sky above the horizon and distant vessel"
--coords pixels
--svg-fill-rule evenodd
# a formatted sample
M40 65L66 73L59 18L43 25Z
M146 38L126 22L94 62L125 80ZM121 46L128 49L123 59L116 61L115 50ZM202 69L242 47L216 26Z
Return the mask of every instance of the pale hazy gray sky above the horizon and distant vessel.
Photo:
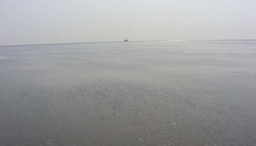
M0 45L256 39L256 0L0 0Z

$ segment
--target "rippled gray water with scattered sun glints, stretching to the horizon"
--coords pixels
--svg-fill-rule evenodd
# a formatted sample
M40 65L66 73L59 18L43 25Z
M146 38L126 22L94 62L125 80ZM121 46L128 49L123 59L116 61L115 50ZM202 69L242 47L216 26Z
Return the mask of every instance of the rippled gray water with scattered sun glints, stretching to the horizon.
M255 146L256 41L0 47L0 146Z

